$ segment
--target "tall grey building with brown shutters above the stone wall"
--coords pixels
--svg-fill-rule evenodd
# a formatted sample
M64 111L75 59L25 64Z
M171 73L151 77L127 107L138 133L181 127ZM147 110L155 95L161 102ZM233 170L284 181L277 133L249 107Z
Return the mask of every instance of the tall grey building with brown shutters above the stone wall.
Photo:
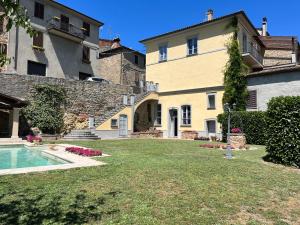
M75 80L99 74L98 39L102 22L56 1L19 3L26 8L37 35L31 38L20 27L13 27L9 34L2 32L1 44L6 46L1 49L7 49L11 59L4 68L6 72Z

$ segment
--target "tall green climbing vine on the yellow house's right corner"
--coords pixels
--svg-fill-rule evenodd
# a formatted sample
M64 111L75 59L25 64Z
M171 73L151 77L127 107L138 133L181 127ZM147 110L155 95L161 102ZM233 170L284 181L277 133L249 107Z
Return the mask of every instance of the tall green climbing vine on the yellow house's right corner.
M230 24L234 29L233 36L227 44L229 60L224 71L225 92L223 104L236 104L236 109L244 111L246 109L248 91L246 75L248 67L244 64L238 42L238 19L235 17Z

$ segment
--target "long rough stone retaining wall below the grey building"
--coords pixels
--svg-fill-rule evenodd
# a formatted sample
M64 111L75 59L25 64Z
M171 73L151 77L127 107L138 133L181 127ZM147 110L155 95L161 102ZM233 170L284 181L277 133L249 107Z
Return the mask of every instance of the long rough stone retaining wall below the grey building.
M0 92L6 95L28 100L37 84L63 86L67 92L67 113L96 117L122 105L122 95L132 93L130 87L122 85L0 73Z

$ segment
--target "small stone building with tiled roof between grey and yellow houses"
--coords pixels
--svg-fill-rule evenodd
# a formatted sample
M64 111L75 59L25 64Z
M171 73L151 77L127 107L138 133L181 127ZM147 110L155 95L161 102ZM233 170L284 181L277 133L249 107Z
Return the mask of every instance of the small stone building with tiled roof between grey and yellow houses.
M98 71L114 84L140 87L145 82L145 55L122 46L120 39L99 41Z

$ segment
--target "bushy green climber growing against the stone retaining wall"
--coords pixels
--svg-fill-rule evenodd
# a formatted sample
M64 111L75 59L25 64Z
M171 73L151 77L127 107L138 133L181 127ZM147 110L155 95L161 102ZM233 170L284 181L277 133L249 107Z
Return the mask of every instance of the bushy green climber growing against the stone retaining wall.
M63 127L65 89L58 85L36 85L30 105L23 109L23 115L32 127L43 133L57 134Z

